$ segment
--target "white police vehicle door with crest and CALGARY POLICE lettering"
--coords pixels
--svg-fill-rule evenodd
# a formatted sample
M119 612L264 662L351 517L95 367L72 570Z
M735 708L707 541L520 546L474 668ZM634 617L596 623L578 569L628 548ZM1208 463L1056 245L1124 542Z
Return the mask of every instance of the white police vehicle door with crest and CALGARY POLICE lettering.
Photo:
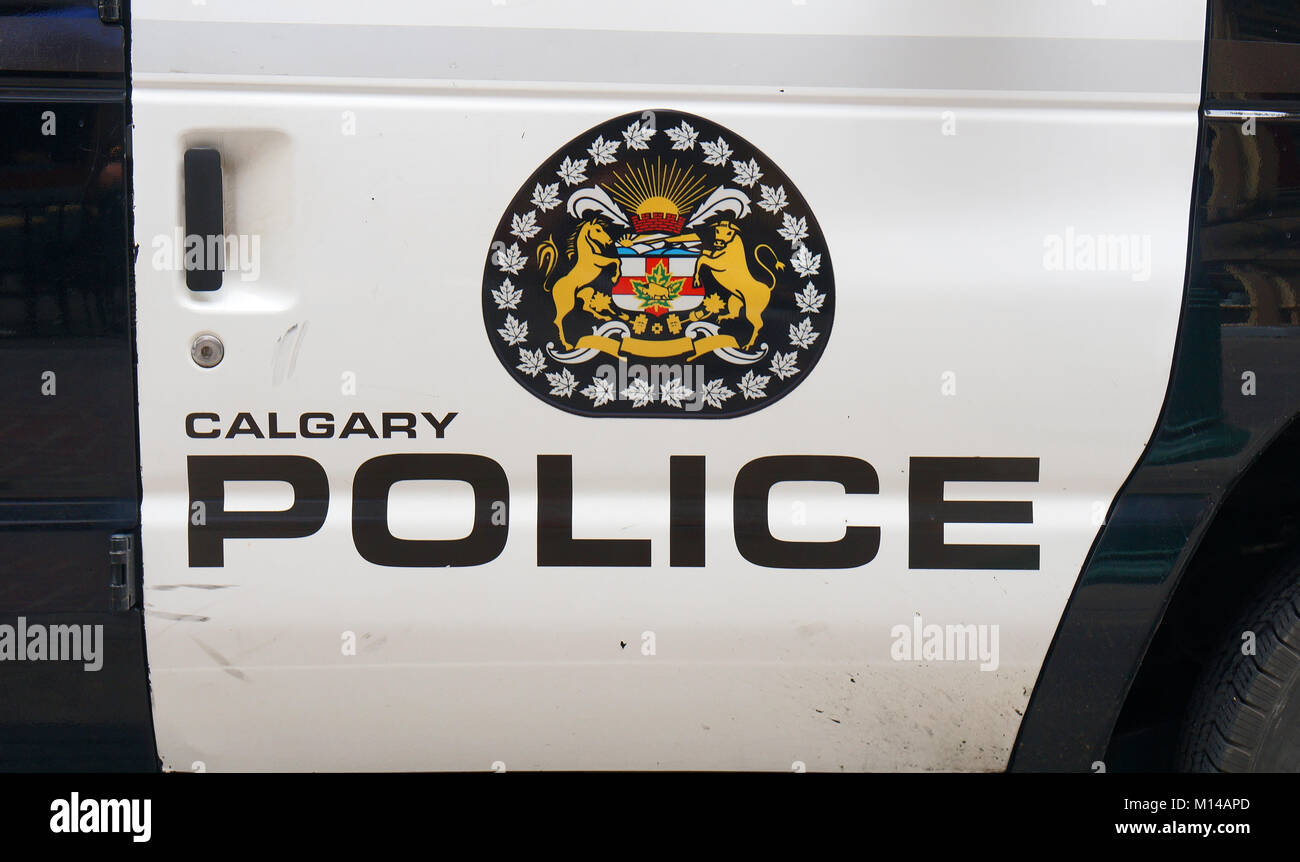
M131 8L173 770L998 770L1164 399L1204 8Z

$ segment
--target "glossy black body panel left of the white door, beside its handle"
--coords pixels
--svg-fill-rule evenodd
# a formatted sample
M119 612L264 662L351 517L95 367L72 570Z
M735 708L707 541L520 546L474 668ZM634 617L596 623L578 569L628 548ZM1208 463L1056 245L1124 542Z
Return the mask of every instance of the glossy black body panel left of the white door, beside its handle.
M140 523L126 69L91 0L0 9L0 625L98 655L0 660L0 770L159 768L109 556Z

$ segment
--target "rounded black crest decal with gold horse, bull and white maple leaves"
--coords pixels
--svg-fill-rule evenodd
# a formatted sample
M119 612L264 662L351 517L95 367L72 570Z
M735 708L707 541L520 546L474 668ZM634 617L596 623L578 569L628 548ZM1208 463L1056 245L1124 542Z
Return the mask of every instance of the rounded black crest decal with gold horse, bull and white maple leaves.
M599 125L528 178L484 267L484 321L530 393L585 416L725 417L786 395L831 335L812 211L694 114Z

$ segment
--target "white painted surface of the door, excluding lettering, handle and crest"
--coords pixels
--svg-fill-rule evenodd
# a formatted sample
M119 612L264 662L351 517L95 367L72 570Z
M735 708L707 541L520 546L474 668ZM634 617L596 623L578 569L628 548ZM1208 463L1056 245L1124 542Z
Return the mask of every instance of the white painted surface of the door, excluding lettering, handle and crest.
M1165 397L1204 4L599 9L133 4L142 559L165 768L1005 767L1098 512ZM569 415L510 380L485 333L484 255L511 196L575 135L655 108L759 147L835 260L820 363L753 415ZM226 230L260 243L256 280L230 272L209 295L153 265L156 239L183 224L182 155L200 144L222 152ZM1067 231L1144 238L1149 270L1046 265ZM225 343L213 369L190 360L203 332ZM187 413L240 411L458 416L445 439L185 433ZM504 468L500 556L429 569L358 554L352 476L407 451ZM266 454L324 465L324 528L228 541L224 567L190 568L186 458ZM573 455L577 536L650 538L653 564L538 567L538 454ZM777 488L774 533L879 525L872 562L740 555L737 471L792 454L864 459L880 493ZM671 455L707 459L702 568L668 566ZM956 524L946 541L1037 545L1040 568L910 569L914 456L1039 459L1037 482L948 489L1031 501L1032 524ZM242 504L283 508L282 491L242 489ZM463 488L398 497L399 534L464 534ZM792 520L796 503L806 517ZM890 632L916 615L997 625L997 668L897 660Z

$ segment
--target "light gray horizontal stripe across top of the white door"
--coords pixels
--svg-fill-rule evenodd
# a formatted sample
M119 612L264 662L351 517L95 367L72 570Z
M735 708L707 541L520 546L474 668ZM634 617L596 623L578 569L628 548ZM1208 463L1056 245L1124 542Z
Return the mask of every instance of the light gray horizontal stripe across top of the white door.
M1153 94L1199 94L1201 83L1201 44L1183 40L150 20L133 29L142 73Z

